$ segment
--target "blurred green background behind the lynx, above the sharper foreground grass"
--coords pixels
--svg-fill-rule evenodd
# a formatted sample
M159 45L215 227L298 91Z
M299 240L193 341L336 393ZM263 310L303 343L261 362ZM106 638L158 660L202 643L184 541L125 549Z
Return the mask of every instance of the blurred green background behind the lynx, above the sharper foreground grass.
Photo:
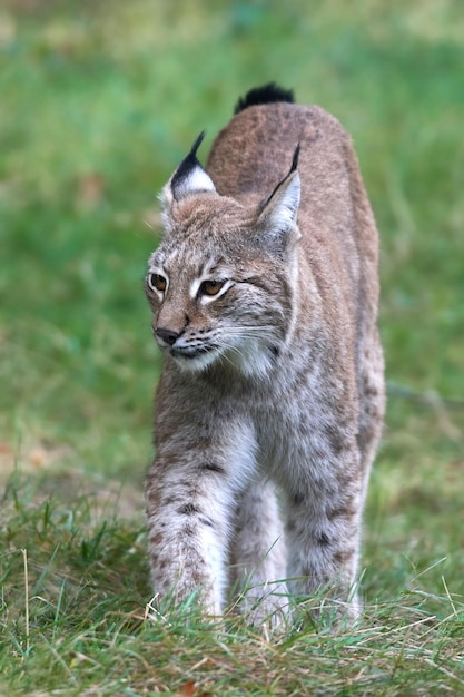
M463 67L461 0L3 0L2 477L17 463L141 491L157 194L201 129L206 158L238 96L276 80L352 134L382 236L391 397L367 557L458 550Z

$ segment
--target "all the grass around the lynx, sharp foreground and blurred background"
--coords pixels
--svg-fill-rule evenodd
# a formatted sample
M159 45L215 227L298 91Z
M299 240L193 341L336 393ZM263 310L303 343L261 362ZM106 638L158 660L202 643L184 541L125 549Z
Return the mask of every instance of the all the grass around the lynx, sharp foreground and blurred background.
M463 37L458 0L3 0L0 695L464 694ZM337 637L146 619L156 194L269 79L353 134L382 233L387 425Z

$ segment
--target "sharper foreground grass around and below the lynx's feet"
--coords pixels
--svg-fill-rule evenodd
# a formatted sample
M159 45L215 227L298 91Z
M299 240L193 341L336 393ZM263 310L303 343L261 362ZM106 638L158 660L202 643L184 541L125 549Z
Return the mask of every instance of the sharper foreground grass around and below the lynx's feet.
M428 570L388 578L389 591L366 607L363 624L337 636L296 622L269 640L240 618L200 621L187 603L147 619L140 523L109 509L96 516L93 498L32 503L29 494L16 482L6 500L0 665L8 696L464 689L464 606L444 581L425 591Z

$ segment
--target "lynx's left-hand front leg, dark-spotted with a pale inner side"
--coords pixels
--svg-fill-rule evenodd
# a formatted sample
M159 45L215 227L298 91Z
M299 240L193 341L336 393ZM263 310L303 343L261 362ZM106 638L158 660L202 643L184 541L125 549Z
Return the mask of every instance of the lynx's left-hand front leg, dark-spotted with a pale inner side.
M179 442L160 444L146 488L155 593L180 601L198 591L211 615L224 605L233 502L254 463L247 433L229 429L218 440L188 449L184 439L184 457L174 454Z

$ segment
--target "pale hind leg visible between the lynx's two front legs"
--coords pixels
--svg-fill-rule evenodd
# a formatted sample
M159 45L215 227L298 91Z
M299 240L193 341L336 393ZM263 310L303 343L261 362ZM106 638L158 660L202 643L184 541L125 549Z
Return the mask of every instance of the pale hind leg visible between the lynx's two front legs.
M288 606L284 528L274 484L254 482L243 494L230 550L235 601L253 625L280 624Z

